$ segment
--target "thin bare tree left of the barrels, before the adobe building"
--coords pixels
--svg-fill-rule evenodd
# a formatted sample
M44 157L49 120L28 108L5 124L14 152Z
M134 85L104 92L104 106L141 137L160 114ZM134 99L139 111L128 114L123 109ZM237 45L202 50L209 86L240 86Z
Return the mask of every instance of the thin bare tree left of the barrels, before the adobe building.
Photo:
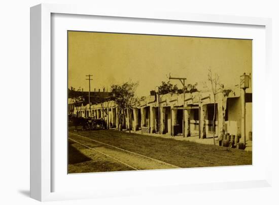
M223 85L220 84L219 75L214 73L214 76L212 76L211 69L208 69L207 74L207 80L211 83L211 90L213 93L213 99L214 99L214 114L213 114L213 142L215 143L215 118L216 118L216 95L218 93L222 93L222 87Z

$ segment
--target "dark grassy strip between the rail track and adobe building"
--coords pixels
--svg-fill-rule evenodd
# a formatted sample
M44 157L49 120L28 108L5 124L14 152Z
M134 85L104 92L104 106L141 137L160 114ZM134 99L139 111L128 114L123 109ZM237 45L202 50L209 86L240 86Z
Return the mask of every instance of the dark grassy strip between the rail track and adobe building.
M72 131L71 128L69 131ZM152 157L179 167L251 165L252 152L116 130L77 134Z

